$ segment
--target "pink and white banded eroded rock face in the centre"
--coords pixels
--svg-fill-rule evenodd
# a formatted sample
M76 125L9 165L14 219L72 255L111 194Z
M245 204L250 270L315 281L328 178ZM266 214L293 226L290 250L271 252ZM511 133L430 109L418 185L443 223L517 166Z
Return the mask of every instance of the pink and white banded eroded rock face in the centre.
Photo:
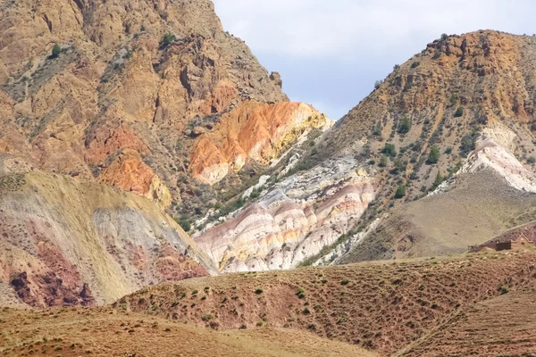
M290 269L353 228L374 195L348 157L285 179L194 239L224 272Z

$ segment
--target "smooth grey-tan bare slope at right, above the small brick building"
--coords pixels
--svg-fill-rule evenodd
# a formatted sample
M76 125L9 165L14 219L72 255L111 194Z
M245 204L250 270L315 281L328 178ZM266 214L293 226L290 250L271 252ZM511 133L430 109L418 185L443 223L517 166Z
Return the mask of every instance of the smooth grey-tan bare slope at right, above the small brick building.
M536 195L510 187L493 170L462 175L448 192L406 203L338 263L465 253L532 221Z

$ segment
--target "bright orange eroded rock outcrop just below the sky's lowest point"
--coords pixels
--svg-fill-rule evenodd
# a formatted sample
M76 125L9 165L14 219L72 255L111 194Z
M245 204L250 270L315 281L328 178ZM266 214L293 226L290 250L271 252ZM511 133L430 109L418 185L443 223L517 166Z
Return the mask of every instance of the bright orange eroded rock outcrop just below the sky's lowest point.
M214 185L248 159L267 164L306 131L328 121L308 104L242 103L222 115L214 131L197 139L190 159L194 178Z

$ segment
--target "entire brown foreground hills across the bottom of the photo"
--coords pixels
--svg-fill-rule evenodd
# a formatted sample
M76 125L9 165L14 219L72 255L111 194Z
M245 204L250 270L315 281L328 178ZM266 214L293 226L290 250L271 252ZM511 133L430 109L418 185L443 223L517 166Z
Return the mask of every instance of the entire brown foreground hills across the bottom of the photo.
M229 274L150 286L113 311L4 309L0 353L148 355L150 345L158 355L197 356L221 344L223 356L532 355L534 258Z

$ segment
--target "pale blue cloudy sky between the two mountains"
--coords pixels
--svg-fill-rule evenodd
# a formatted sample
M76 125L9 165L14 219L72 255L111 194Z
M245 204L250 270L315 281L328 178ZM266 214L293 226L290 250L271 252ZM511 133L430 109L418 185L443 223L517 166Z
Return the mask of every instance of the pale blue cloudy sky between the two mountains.
M213 0L290 100L339 120L442 33L536 33L534 0Z

